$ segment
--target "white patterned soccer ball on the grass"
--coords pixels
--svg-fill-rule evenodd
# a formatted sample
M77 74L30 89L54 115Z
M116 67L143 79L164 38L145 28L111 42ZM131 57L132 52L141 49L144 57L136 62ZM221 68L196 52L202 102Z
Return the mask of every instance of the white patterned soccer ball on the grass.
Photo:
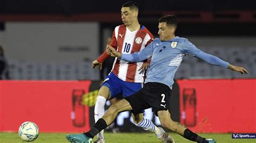
M31 121L25 121L19 127L19 137L24 141L33 141L38 137L39 130L35 123Z

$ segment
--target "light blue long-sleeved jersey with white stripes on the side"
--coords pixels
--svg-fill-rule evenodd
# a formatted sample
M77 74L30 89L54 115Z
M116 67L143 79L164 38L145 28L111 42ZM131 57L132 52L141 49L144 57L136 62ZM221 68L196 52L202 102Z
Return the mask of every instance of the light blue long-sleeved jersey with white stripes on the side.
M227 68L228 63L206 54L194 46L186 38L174 37L169 41L154 39L146 48L133 54L122 54L121 60L138 62L151 58L147 69L147 82L158 82L168 85L172 89L173 77L186 55L196 56L207 63Z

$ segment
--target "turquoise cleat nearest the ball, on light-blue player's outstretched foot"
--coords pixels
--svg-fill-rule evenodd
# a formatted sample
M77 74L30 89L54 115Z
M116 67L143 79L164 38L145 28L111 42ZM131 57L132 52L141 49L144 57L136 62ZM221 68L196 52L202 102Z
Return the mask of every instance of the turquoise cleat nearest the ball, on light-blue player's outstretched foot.
M83 133L79 133L79 134L67 134L66 135L66 139L69 142L79 142L79 143L91 143L92 142L92 138L87 137L85 134Z

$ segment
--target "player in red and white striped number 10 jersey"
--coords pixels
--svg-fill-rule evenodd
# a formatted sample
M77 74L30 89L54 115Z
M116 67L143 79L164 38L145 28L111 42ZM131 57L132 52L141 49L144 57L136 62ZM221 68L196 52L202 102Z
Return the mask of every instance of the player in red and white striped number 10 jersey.
M110 45L124 54L139 52L149 45L153 40L153 35L145 26L139 24L138 5L134 2L125 3L121 9L121 16L124 24L114 28ZM93 68L99 67L101 69L106 58L109 58L109 55L104 52L97 60L92 62ZM114 60L112 71L105 78L96 99L95 122L104 115L104 105L107 100L119 94L127 97L142 89L145 79L144 72L148 66L149 63L146 61L126 62L117 58ZM160 140L173 141L163 128L157 127L151 120L143 118L143 113L137 115L132 113L132 118L136 126L153 132ZM104 142L103 133L104 130L97 134L98 139L95 142Z

